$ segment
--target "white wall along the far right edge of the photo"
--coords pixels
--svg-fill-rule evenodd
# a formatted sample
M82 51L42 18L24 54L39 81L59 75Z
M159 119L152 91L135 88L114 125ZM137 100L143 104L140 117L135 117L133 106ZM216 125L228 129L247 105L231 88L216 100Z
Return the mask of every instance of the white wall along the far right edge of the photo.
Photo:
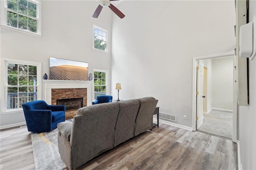
M249 22L256 17L256 1L249 0ZM249 60L249 106L239 106L239 146L242 169L256 169L256 58Z

